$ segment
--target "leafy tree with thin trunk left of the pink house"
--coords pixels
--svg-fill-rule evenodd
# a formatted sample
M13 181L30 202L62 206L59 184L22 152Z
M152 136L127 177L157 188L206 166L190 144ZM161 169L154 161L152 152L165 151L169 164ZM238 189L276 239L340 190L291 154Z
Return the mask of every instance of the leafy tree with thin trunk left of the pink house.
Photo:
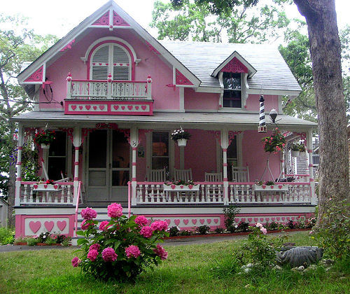
M34 34L25 27L25 20L19 17L0 15L0 24L0 171L7 174L8 225L14 226L16 125L11 118L28 110L30 105L27 94L15 77L20 73L23 62L34 61L57 38ZM10 29L6 29L9 25Z

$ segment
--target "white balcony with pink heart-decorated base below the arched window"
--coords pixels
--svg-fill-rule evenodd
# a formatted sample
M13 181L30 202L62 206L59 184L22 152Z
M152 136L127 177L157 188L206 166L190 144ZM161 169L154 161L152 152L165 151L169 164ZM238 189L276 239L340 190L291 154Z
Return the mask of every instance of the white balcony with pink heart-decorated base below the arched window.
M153 116L152 79L73 80L66 78L65 114Z

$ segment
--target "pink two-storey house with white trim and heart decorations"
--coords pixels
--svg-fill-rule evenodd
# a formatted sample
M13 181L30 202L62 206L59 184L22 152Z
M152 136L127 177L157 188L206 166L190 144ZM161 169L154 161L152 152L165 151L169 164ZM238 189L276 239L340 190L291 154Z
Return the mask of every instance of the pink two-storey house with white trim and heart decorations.
M276 48L158 41L109 1L25 66L19 83L40 103L15 118L17 236L73 236L80 209L94 207L104 220L111 202L181 228L223 226L223 207L232 203L241 207L237 222L286 222L314 211L316 125L283 114L281 97L300 87ZM260 95L267 133L258 132ZM307 146L302 174L289 143L264 151L261 139L276 127L272 109L286 141ZM192 135L186 146L171 139L181 127ZM38 130L56 132L50 148L38 146L40 176L52 185L21 176L24 138ZM195 183L164 184L173 179Z

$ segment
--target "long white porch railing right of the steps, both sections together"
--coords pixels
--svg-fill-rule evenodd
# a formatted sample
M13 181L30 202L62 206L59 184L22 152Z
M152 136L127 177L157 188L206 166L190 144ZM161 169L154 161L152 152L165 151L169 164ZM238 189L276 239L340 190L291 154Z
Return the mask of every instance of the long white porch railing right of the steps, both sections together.
M282 184L282 183L281 183ZM253 182L228 183L224 197L223 182L195 182L196 191L165 191L160 182L137 182L137 204L310 204L310 183L283 182L283 190L255 190ZM227 198L227 199L225 199Z

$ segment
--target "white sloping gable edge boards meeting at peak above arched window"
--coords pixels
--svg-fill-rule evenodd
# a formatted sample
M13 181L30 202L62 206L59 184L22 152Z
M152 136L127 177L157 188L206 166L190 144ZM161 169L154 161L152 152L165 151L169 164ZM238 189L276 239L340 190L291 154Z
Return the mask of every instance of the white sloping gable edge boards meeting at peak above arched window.
M59 40L55 45L52 45L51 48L49 48L47 51L45 51L41 56L39 56L34 62L32 62L29 66L25 67L25 69L20 72L18 75L18 81L20 84L25 83L26 78L29 78L33 73L35 73L38 69L43 66L43 79L45 79L45 63L48 62L50 59L57 57L59 55L62 55L63 53L61 50L66 48L66 46L71 45L72 42L75 41L75 39L83 33L87 28L90 27L118 27L118 25L109 25L109 23L106 23L104 25L96 25L97 21L106 17L107 12L116 12L118 13L118 17L121 18L123 21L123 27L128 27L130 29L134 29L134 31L141 36L141 38L144 38L145 43L150 44L160 53L160 57L165 59L169 64L174 66L176 69L179 69L181 73L183 73L188 80L190 80L193 85L198 86L200 85L200 80L191 72L189 71L186 66L184 66L181 62L179 62L174 55L170 54L169 51L164 48L151 34L149 34L143 27L141 27L130 15L128 15L120 6L118 6L113 0L108 1L104 6L96 10L92 15L85 18L83 22L80 22L80 24L69 31L66 36L64 36L61 40ZM35 83L35 82L34 82ZM31 83L31 84L34 84ZM39 82L36 82L39 83Z

